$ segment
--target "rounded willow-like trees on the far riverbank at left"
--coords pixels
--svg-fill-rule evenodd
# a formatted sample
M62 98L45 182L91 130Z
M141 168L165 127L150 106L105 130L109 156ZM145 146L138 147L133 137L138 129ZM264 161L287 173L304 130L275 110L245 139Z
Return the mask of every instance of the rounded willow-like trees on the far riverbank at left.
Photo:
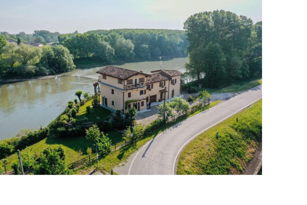
M75 69L72 54L62 45L34 47L8 43L0 36L0 77L33 77Z

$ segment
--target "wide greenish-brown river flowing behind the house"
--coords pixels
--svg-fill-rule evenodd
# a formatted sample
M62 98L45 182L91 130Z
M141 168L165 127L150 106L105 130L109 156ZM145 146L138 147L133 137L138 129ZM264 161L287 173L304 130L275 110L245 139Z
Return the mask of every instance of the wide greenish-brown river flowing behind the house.
M126 69L150 73L161 69L185 71L187 57L142 61L114 65ZM47 126L73 101L76 90L94 93L93 83L98 80L97 70L103 68L76 69L61 73L69 76L44 80L8 83L0 87L0 140L10 138L24 128Z

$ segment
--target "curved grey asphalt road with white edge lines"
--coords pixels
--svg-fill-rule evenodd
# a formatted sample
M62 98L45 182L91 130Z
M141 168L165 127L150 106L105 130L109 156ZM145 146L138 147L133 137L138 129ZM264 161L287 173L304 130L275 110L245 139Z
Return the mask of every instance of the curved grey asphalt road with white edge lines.
M190 140L261 97L262 85L259 85L174 125L150 140L114 171L131 175L175 174L179 153Z

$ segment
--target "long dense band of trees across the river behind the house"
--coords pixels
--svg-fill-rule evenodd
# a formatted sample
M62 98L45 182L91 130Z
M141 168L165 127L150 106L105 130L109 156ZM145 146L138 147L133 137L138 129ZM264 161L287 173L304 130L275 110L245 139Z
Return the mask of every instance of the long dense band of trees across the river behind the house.
M157 29L93 30L84 34L60 34L59 42L75 57L93 57L112 62L181 57L188 41L184 31Z

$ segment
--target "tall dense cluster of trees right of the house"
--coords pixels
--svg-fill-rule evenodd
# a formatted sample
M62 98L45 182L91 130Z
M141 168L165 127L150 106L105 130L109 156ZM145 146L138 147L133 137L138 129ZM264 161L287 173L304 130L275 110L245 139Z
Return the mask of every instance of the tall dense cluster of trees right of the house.
M190 16L184 23L189 45L188 74L219 87L262 73L262 22L215 10Z

